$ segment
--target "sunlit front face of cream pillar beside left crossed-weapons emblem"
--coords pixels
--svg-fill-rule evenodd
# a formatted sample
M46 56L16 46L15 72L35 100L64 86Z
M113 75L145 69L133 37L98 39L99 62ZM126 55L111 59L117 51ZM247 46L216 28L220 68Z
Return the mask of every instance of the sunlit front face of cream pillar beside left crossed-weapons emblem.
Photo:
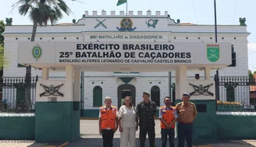
M74 67L72 65L66 66L66 100L73 101L73 77Z

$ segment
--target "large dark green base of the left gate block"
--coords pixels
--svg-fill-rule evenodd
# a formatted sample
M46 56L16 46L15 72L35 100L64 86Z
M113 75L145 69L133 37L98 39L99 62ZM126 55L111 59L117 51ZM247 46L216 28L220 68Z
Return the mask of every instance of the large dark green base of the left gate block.
M79 102L36 102L35 141L72 142L80 137Z

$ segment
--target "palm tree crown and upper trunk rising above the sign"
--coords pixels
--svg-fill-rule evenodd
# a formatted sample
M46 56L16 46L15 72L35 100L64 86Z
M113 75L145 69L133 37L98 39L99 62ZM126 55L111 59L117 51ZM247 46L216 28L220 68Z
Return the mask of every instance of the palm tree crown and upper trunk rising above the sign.
M69 0L76 1L76 0ZM69 15L71 9L63 0L18 0L14 6L18 6L20 15L29 15L33 21L31 41L34 41L35 34L39 26L47 26L51 21L51 26L63 17L62 12Z

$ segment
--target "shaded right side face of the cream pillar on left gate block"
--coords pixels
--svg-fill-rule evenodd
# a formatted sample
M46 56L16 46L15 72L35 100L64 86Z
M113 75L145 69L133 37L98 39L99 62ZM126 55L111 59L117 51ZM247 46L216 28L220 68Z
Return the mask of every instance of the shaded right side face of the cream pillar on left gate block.
M80 101L80 70L74 70L74 98L73 101Z

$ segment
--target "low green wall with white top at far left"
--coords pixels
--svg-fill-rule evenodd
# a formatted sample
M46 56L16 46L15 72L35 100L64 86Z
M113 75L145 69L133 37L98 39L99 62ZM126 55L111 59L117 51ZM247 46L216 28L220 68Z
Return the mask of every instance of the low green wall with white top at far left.
M34 140L34 114L11 115L0 116L0 139Z

